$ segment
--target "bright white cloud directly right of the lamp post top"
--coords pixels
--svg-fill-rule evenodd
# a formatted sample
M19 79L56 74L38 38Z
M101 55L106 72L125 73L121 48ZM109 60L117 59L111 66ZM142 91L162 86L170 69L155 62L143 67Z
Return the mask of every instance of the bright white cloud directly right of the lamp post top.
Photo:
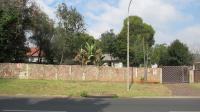
M155 25L167 24L182 19L175 6L163 0L136 0L134 9L136 15ZM132 10L134 11L134 9Z

